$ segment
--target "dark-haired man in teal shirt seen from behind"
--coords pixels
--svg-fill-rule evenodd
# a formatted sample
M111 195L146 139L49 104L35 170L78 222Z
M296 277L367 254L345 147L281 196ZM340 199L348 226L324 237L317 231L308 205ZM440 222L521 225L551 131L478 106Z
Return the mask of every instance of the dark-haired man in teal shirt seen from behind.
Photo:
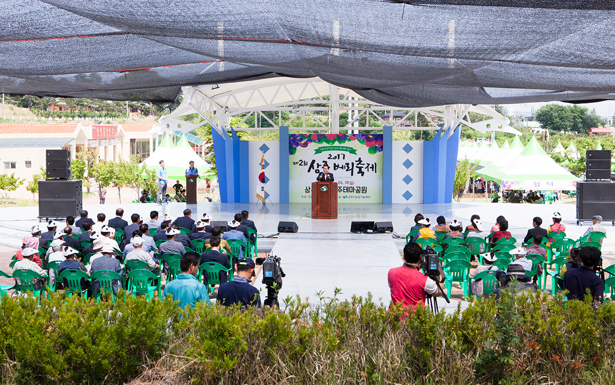
M186 306L194 308L197 302L202 302L207 307L212 306L207 287L196 278L199 266L199 255L197 253L188 252L182 255L180 260L181 274L165 285L162 296L170 295L173 301L180 301L178 303L180 308L186 308Z

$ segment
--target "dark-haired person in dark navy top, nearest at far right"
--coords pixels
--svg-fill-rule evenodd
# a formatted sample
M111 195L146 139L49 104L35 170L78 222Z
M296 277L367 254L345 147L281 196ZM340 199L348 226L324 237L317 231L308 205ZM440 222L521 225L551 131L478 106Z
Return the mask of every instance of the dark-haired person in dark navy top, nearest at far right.
M595 266L601 266L602 253L597 247L585 246L579 250L581 266L570 269L564 275L564 289L568 290L568 300L584 300L589 291L592 300L602 302L605 282L596 275Z

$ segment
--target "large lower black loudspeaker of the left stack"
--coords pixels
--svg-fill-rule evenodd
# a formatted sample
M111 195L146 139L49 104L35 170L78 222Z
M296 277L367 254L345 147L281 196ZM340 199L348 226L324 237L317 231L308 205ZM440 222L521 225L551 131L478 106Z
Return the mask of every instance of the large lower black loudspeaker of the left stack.
M39 180L39 218L78 218L82 190L81 180Z

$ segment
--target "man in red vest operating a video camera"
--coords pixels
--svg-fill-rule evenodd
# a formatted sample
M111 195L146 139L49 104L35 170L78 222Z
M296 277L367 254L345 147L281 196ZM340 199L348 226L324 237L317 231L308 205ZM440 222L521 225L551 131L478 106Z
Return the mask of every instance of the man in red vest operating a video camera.
M418 244L410 243L403 248L403 265L389 270L389 287L391 288L391 306L402 303L404 308L415 308L425 303L426 295L442 296L442 290L435 280L421 272L421 253ZM389 306L389 309L391 309Z

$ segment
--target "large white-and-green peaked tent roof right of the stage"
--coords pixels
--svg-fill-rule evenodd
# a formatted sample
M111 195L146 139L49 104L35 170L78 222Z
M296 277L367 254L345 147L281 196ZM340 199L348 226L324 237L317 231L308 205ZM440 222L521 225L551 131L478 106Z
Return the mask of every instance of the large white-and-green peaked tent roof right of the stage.
M500 167L485 167L475 175L501 183L504 189L571 190L579 180L544 152L532 137L517 156Z

